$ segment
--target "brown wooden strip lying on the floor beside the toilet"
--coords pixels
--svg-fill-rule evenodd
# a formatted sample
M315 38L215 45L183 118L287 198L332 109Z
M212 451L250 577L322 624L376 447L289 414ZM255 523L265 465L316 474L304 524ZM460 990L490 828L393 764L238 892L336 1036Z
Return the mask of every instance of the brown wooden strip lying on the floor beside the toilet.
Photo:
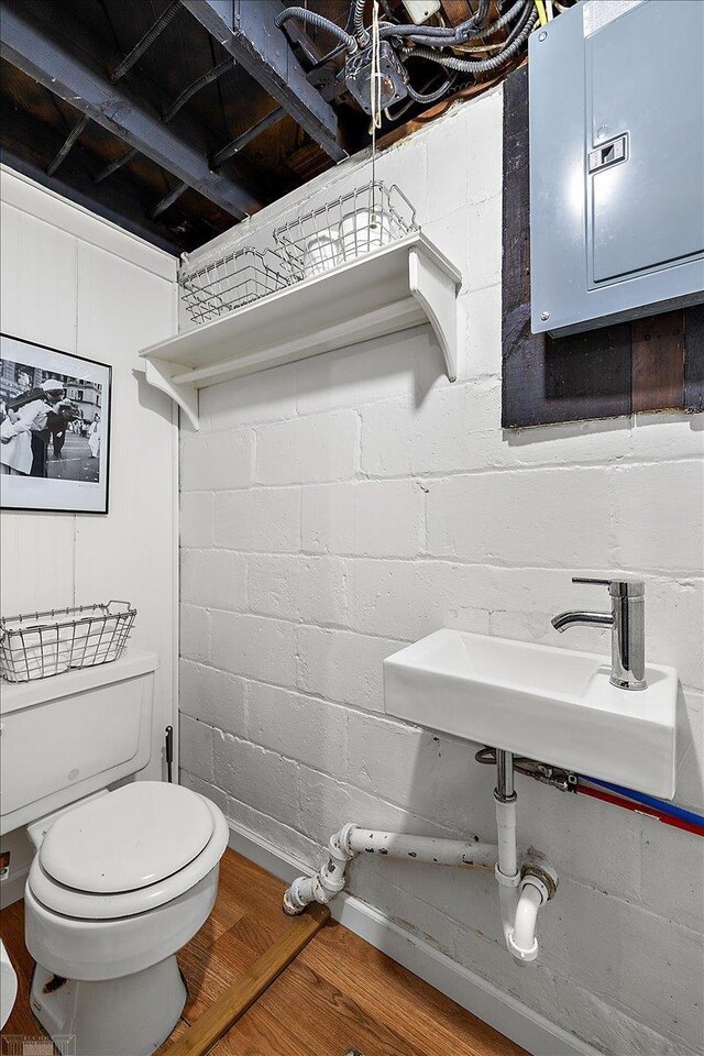
M164 1056L205 1056L308 945L329 916L327 905L314 903L301 916L292 919L266 953L185 1034L163 1050Z

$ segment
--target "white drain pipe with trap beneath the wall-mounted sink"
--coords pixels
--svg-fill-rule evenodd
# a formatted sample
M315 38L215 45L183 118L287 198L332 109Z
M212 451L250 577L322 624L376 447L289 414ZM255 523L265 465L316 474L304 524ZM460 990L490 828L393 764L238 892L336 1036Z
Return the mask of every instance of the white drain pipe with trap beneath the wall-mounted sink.
M498 881L506 945L519 964L535 960L538 956L538 910L553 897L558 878L552 866L536 854L526 856L518 868L514 757L510 751L496 752L494 796L498 844L482 842L479 836L471 840L440 839L384 833L351 823L343 825L330 838L326 865L314 877L298 877L285 891L284 912L297 916L310 902L331 902L344 888L348 862L361 853L443 866L493 868Z

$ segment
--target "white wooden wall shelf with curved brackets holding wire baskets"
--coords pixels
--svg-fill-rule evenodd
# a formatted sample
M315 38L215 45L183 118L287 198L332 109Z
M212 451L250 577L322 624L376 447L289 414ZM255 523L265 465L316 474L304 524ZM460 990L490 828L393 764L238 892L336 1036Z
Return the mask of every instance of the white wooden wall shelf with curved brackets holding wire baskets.
M457 378L461 273L415 232L144 349L146 380L198 428L198 391L430 322Z

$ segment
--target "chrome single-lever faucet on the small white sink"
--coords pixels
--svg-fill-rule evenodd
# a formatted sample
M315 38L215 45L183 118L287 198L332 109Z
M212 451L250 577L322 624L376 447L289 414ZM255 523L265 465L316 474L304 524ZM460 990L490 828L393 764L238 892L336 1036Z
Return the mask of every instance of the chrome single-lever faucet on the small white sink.
M573 576L573 583L607 586L609 613L560 613L552 626L560 634L568 627L612 628L612 685L622 690L646 689L646 584L642 580L591 580Z

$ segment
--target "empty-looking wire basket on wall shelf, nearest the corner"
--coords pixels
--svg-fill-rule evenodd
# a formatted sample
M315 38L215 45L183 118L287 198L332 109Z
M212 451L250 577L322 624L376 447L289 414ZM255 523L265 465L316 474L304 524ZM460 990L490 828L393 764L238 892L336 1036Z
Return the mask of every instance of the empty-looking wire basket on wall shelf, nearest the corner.
M296 278L290 265L273 250L246 245L187 274L182 278L180 297L194 322L210 322Z

